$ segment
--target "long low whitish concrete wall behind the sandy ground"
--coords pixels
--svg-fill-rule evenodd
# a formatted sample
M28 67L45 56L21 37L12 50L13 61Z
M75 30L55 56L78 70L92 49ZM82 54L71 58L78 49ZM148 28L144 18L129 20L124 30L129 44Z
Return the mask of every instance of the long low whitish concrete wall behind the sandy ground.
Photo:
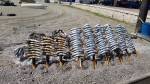
M99 13L106 17L114 18L120 21L125 21L127 23L137 22L138 13L135 12L114 9L106 6L88 5L88 4L79 4L79 3L74 3L72 6L76 8L88 10L94 13ZM147 17L147 21L150 21L150 16Z

